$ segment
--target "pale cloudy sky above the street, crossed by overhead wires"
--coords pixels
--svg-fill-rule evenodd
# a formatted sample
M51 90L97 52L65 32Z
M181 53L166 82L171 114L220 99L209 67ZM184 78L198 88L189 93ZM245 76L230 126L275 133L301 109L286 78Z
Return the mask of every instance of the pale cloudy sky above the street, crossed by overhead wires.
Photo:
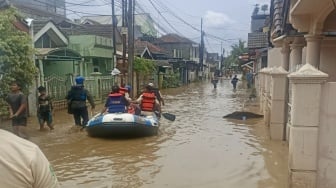
M118 6L121 0L115 1ZM107 5L111 2L110 0L67 0L67 2L96 5L67 4L67 13L70 18L85 15L78 12L71 13L71 10L88 13L85 16L111 14L111 6ZM270 0L136 0L136 3L143 9L137 9L137 12L149 12L167 32L176 33L178 31L179 34L195 42L201 40L201 33L196 29L200 30L201 19L203 19L203 30L206 33L205 47L208 52L218 53L221 53L222 48L226 52L229 51L230 46L237 43L239 39L246 41L255 4L263 5L269 2ZM118 11L119 8L116 9Z

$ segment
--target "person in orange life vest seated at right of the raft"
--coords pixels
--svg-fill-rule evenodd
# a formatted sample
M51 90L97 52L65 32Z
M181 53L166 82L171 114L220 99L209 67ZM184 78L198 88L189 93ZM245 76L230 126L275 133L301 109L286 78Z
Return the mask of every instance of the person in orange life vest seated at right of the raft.
M157 100L154 91L150 85L145 87L145 91L140 95L140 97L134 101L140 104L142 115L153 115L155 109L159 110L158 117L161 117L161 105Z

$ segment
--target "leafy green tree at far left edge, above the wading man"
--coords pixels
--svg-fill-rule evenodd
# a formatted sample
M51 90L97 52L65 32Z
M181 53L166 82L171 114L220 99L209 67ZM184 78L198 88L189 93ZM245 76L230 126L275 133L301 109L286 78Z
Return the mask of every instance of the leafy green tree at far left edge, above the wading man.
M22 91L28 94L37 73L32 61L31 38L28 33L14 26L19 19L20 16L13 8L0 10L0 71L4 73L0 82L0 116L7 112L3 99L9 92L10 82L18 81L23 86Z

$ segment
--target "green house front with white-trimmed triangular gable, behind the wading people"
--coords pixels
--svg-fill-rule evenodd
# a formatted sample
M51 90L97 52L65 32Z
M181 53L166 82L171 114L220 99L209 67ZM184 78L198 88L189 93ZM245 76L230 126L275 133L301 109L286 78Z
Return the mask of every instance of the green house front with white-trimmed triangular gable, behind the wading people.
M72 81L70 75L83 74L80 53L67 48L68 37L53 21L33 20L35 61L39 68L38 85L44 85L54 99L64 99ZM57 83L55 81L57 80ZM64 84L66 83L66 84Z

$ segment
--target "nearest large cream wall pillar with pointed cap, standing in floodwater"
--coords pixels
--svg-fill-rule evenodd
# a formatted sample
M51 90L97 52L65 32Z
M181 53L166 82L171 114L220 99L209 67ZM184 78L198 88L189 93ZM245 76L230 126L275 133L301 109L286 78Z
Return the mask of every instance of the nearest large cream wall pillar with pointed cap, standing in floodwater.
M320 101L328 75L305 64L288 77L292 85L289 187L316 188Z

